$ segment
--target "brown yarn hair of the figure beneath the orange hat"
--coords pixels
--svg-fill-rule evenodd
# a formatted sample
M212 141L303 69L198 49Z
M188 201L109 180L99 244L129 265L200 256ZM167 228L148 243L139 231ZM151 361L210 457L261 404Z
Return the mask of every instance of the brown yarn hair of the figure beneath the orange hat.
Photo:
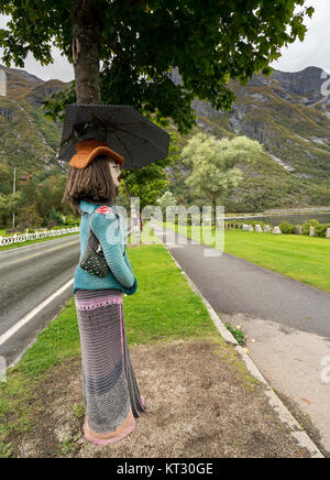
M84 170L70 167L63 201L68 201L75 214L80 214L81 200L97 205L114 204L119 189L112 181L109 160L102 155Z

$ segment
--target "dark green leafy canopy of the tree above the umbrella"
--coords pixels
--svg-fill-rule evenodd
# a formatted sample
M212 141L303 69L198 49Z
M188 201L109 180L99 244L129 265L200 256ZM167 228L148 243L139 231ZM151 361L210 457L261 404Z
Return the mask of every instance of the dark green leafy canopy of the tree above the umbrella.
M243 83L254 72L267 74L280 47L304 40L305 0L95 0L99 33L101 101L132 105L165 124L173 119L182 133L195 122L191 100L229 109L234 95L228 79ZM300 9L297 9L300 7ZM298 11L297 11L297 10ZM57 46L73 62L73 0L2 0L11 15L0 30L2 62L23 67L31 52L47 65ZM177 67L183 84L169 73ZM75 98L55 97L48 111L58 114Z

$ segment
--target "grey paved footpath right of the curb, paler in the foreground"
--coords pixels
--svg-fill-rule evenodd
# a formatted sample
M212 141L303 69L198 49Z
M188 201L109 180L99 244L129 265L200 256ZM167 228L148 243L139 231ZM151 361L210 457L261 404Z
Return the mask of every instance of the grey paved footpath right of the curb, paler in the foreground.
M330 295L216 250L206 257L205 246L172 230L155 232L219 316L242 327L261 372L310 416L330 452Z

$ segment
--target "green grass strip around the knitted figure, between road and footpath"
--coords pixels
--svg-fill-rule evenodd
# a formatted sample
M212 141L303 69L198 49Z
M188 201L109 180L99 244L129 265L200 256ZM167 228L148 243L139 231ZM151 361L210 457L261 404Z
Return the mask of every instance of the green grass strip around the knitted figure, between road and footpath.
M129 249L139 290L124 297L129 343L154 343L174 339L212 339L228 348L201 299L163 246ZM33 425L40 400L35 385L52 368L80 354L74 301L38 337L22 360L0 383L0 458L11 456L9 438Z

